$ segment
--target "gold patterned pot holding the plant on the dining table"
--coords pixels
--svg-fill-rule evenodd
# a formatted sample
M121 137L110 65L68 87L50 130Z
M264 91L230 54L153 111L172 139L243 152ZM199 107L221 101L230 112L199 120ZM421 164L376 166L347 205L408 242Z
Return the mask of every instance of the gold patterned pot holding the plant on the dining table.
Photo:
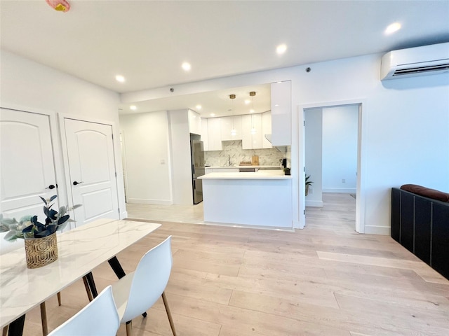
M28 268L39 268L58 259L56 232L43 238L26 238L25 255Z

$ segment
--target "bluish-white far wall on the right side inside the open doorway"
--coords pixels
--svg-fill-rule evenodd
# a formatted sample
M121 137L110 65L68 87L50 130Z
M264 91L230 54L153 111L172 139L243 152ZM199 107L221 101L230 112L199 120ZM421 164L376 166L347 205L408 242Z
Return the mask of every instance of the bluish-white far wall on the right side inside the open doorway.
M323 193L356 193L357 131L358 105L323 109Z

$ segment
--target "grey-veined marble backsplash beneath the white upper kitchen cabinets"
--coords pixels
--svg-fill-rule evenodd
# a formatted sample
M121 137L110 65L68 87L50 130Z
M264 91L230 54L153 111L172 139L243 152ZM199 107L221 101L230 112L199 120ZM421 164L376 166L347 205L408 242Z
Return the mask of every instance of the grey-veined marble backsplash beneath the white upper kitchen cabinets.
M222 141L222 147L222 151L204 152L206 165L211 167L228 166L230 156L232 165L238 166L242 161L251 161L253 155L259 155L259 165L261 166L281 167L283 158L287 158L290 162L290 146L287 147L287 153L282 153L276 148L243 149L241 148L241 140Z

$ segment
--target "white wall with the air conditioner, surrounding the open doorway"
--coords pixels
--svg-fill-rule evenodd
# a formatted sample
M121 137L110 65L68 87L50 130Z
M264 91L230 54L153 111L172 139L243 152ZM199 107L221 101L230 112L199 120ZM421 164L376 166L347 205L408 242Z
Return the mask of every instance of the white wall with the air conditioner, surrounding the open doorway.
M391 187L449 191L449 74L380 81L380 57L366 55L122 94L123 102L292 80L294 225L300 226L302 113L298 106L363 101L361 232L389 234ZM311 71L306 72L306 67ZM301 125L301 127L300 127ZM301 182L300 182L301 181ZM301 189L303 190L303 189ZM301 198L302 197L302 198Z

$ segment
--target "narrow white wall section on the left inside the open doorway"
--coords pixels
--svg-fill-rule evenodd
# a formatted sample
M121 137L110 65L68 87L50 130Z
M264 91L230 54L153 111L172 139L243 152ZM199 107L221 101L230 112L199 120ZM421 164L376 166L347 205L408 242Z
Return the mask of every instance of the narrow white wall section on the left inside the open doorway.
M308 109L304 112L305 167L310 175L307 207L323 207L323 109Z

